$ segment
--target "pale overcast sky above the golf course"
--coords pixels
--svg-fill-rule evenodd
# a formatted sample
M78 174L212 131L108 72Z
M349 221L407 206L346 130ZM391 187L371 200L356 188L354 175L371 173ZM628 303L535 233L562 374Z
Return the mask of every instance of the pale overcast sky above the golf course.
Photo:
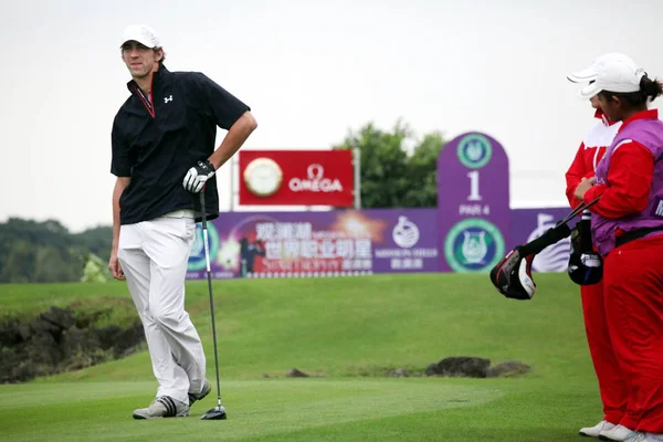
M329 148L399 117L419 136L480 130L509 156L512 207L543 207L565 204L593 124L566 74L619 51L663 77L661 18L660 0L2 1L0 222L110 224L127 24L157 30L171 71L202 71L252 107L248 148Z

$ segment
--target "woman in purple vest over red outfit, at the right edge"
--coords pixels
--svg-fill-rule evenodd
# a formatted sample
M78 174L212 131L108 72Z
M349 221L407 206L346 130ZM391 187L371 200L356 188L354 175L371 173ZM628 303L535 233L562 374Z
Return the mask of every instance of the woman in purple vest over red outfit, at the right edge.
M593 81L580 96L597 95L612 122L622 122L575 196L590 208L597 251L603 256L603 308L610 344L627 388L623 415L601 438L663 441L663 122L650 99L663 92L631 59L613 54L577 78Z

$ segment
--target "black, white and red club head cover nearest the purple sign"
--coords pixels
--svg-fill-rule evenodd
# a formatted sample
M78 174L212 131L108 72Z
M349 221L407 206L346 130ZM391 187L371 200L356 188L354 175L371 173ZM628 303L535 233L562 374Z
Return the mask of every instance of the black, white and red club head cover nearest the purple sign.
M491 270L491 282L509 299L528 301L536 292L536 283L532 277L534 254L520 255L520 246L511 251Z

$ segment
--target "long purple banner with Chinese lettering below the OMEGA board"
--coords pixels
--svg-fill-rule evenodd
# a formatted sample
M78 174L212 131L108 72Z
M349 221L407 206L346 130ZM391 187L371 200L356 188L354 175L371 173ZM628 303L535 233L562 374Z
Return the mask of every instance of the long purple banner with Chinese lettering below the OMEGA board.
M228 212L208 222L213 278L436 272L436 209ZM187 277L207 277L201 225Z

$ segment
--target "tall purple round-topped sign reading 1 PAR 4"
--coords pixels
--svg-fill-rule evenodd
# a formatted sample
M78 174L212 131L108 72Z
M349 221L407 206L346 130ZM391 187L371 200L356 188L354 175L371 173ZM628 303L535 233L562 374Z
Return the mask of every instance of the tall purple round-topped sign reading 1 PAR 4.
M491 136L467 133L444 146L438 158L441 272L490 272L504 257L508 186L508 158Z

